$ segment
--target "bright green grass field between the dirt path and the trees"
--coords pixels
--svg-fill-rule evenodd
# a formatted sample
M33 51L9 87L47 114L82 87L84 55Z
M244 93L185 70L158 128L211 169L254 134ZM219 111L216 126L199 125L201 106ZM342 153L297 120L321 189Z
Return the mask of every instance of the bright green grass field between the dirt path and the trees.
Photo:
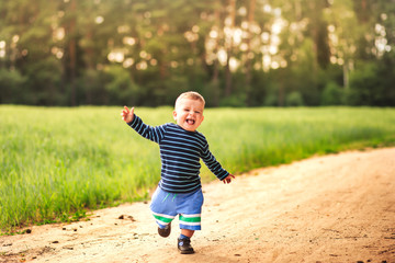
M120 107L0 106L0 229L67 221L148 197L159 148ZM149 125L172 108L136 108ZM240 173L348 149L395 145L395 108L207 108L200 127L224 168ZM202 180L215 176L203 165Z

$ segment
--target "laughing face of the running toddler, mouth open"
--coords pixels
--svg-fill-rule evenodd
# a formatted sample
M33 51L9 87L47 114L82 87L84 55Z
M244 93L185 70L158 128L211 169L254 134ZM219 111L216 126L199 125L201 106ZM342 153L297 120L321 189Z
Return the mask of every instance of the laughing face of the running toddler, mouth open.
M176 123L188 132L195 132L204 119L204 104L200 100L180 99L173 111Z

